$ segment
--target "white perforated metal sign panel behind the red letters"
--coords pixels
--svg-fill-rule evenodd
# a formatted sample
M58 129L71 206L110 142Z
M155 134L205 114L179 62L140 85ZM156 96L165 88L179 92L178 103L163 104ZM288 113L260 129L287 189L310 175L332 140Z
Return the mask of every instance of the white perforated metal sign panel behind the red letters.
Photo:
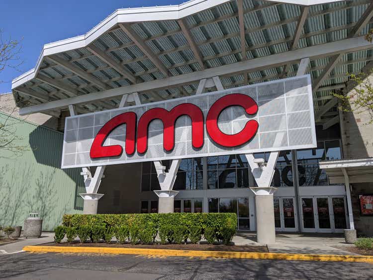
M121 145L123 147L121 156L100 159L90 157L95 135L109 119L118 114L135 112L138 121L141 115L151 108L161 107L171 110L179 104L192 103L202 110L204 119L206 119L211 105L220 97L232 93L248 95L259 106L256 115L246 114L241 106L230 106L219 115L218 126L226 134L240 132L250 119L258 121L257 134L241 146L232 148L216 144L204 127L203 146L196 149L191 143L191 120L188 116L181 116L175 124L175 147L172 151L166 151L163 148L163 123L156 119L148 127L148 149L145 154L139 154L137 151L133 155L125 153L126 125L123 124L116 127L103 144L104 146ZM310 76L305 75L220 92L68 117L65 125L62 168L313 147L316 147L316 134L312 89Z

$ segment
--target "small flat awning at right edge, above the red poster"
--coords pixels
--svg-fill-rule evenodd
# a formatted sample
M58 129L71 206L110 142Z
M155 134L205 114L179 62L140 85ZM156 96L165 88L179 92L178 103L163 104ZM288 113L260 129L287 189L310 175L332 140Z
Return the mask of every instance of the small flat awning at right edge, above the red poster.
M345 174L350 183L373 182L373 158L322 161L320 169L324 169L331 184L345 183Z

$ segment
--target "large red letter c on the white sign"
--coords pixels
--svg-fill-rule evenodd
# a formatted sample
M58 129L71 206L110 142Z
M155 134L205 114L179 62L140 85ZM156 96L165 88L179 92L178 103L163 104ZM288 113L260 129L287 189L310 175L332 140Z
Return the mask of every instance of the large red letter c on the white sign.
M257 103L245 94L228 94L215 101L207 114L206 129L211 139L224 147L236 147L245 144L255 136L259 126L256 120L249 120L240 132L236 134L223 133L218 127L218 118L220 113L230 106L241 106L249 115L258 112Z

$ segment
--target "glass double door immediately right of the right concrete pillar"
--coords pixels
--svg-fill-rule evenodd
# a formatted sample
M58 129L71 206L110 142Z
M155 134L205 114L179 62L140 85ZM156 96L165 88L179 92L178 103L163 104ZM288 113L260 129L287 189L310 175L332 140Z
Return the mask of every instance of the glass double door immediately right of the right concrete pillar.
M297 231L294 197L274 197L277 231Z

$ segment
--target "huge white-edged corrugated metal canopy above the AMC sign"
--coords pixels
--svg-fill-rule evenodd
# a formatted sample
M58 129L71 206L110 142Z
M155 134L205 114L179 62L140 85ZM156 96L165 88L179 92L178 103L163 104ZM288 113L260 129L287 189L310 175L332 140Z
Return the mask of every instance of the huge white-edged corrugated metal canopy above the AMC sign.
M372 22L373 4L369 0L347 2L265 0L250 6L251 1L248 0L190 0L180 5L118 9L84 35L44 45L35 68L12 81L12 92L17 105L21 107L20 114L23 115L35 112L58 115L70 104L80 105L80 112L91 112L117 106L119 101L115 97L125 93L138 92L142 102L192 94L198 80L214 76L226 78L228 82L223 82L225 88L291 77L295 75L300 59L310 57L314 60L308 73L314 76L314 104L315 110L319 112L316 115L318 121L325 122L324 126L327 128L338 121L334 110L336 102L329 101L333 98L330 90L348 89L345 82L350 68L338 74L334 74L336 71L333 70L354 64L353 72L356 73L364 70L364 67L369 68L368 70L373 67L373 55L368 52L373 49L373 45L362 36L366 31L361 32ZM331 6L312 8L313 5L325 3L331 3ZM335 26L329 27L319 23L319 18L325 14L333 13L333 17L338 18L340 11L352 8L356 13L352 21L338 21L333 23ZM276 16L272 16L271 11L279 13L278 19L274 19ZM193 21L194 17L199 17L199 23ZM312 21L310 25L316 26L316 30L320 30L306 31L303 27L307 20ZM256 25L248 26L252 24L249 21L256 22ZM176 25L179 29L167 29L163 34L145 34L147 30L139 30L141 28L138 25L159 25L162 22L171 22L170 25ZM284 38L275 39L277 35L268 37L270 33L282 34L280 29L284 26L289 33L282 35ZM194 32L191 32L192 29ZM111 36L115 31L124 32L123 37L126 36L127 41L120 38L122 42L118 46L103 46L101 49L97 47L97 42L105 41L105 36ZM284 34L286 32L283 31ZM179 35L181 39L177 37ZM172 36L175 37L171 38ZM252 39L247 38L250 36L253 36ZM338 36L341 36L340 39ZM187 43L178 43L170 48L170 41L162 41L169 37L170 41ZM201 41L201 37L206 38ZM155 52L152 52L156 45L153 41L160 45ZM208 46L209 44L215 46ZM132 58L126 59L118 54L119 51L127 51L127 48L132 47L137 48L137 53ZM224 48L231 50L226 51ZM77 51L80 51L81 57L69 58L69 54ZM257 51L259 55L254 55ZM209 52L214 54L208 54ZM167 61L165 63L163 56L175 57L178 53L184 62L176 63L174 60L174 64ZM356 54L353 55L356 59L350 63L346 61L349 60L346 59L348 53ZM249 55L251 57L246 57ZM77 67L78 62L87 64L90 57L103 62L103 66L93 64L94 69L85 69L82 65ZM136 63L143 64L133 68L132 64ZM142 71L144 63L146 67ZM46 70L55 70L57 74L46 73ZM111 71L120 77L110 73L104 73L105 76L95 71ZM257 76L258 73L260 77ZM329 77L331 73L333 78ZM144 75L153 77L147 80L147 77L143 78ZM331 82L323 85L328 79ZM113 86L114 83L116 85ZM178 93L174 95L175 91ZM321 117L322 115L324 116Z

